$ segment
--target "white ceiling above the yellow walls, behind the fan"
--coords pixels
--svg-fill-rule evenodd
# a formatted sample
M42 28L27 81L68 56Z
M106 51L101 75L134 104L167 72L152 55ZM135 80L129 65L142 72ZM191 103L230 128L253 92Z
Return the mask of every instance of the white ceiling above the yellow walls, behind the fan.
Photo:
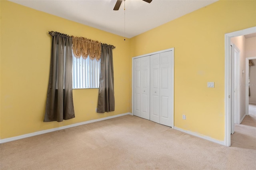
M217 0L10 0L87 26L132 38ZM124 22L125 18L125 22ZM125 25L125 30L124 30ZM58 30L56 30L58 31Z

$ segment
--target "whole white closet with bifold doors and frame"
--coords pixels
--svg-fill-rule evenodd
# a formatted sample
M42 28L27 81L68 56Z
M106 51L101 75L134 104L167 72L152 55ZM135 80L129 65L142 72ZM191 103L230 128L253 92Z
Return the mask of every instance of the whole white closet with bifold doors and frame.
M174 49L132 58L133 115L173 127Z

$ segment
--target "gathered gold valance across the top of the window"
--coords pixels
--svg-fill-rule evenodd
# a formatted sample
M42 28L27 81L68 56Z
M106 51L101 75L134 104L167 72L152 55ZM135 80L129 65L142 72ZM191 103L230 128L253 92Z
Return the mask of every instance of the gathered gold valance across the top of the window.
M100 59L100 42L84 37L72 36L72 43L73 53L76 58L80 58L82 55L82 57L86 59L89 55L90 59L96 58L97 61Z

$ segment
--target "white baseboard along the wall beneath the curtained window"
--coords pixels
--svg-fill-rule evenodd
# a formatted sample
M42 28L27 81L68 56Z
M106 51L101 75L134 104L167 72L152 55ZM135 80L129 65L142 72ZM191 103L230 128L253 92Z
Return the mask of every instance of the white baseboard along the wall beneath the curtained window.
M41 131L38 131L38 132L23 134L23 135L11 137L11 138L0 139L0 144L5 143L5 142L11 142L13 140L19 140L19 139L28 138L28 137L31 137L31 136L36 136L36 135L39 135L39 134L54 132L54 131L62 130L62 129L65 129L65 128L76 127L76 126L85 125L85 124L88 124L88 123L93 123L93 122L98 122L98 121L104 121L104 120L107 120L107 119L112 119L112 118L120 117L120 116L124 116L124 115L132 115L132 113L128 112L128 113L123 113L123 114L120 114L120 115L114 115L114 116L104 117L104 118L100 118L100 119L94 119L94 120L91 120L91 121L75 123L75 124L67 125L67 126L63 126L63 127L41 130Z

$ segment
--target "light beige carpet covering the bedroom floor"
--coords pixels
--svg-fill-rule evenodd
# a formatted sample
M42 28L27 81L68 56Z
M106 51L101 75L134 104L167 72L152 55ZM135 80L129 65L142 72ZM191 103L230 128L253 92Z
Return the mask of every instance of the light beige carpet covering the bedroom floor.
M222 146L126 115L0 144L0 169L255 170L255 130L232 140L239 145Z

